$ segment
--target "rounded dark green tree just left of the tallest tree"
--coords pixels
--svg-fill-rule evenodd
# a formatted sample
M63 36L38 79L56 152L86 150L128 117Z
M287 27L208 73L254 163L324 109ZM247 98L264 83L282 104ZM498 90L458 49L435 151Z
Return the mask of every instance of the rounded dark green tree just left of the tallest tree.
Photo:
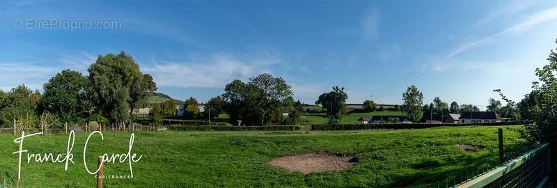
M91 111L88 101L88 79L81 72L63 70L52 77L44 86L38 111L54 113L61 122L76 122Z

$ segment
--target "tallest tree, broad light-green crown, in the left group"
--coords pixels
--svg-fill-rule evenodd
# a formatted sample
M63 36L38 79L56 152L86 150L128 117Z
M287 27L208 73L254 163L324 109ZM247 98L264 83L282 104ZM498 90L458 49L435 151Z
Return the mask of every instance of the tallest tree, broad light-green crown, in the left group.
M132 107L144 96L135 90L141 90L145 84L134 58L125 52L98 56L88 72L95 110L112 122L130 120Z

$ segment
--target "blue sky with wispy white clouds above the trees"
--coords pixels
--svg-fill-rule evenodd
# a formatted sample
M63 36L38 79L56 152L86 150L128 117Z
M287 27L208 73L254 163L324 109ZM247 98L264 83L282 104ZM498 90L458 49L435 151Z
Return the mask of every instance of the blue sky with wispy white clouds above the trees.
M348 102L400 104L415 84L425 103L483 109L494 89L512 100L530 91L556 31L556 1L2 1L0 89L42 89L56 72L86 74L96 56L125 51L179 100L269 72L308 103L339 85Z

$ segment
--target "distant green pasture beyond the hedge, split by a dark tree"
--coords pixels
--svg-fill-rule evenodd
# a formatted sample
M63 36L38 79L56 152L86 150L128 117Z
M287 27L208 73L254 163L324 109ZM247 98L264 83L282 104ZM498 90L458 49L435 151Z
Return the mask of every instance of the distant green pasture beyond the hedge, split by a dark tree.
M370 116L402 116L402 111L372 111L366 113L348 113L341 119L342 123L357 123L361 117ZM303 125L328 123L329 118L325 113L302 113L300 123Z

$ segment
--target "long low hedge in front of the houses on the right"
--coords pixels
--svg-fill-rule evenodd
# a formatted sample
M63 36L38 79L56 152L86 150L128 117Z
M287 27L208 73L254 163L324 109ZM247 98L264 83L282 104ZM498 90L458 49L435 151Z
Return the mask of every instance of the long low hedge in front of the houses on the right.
M375 129L425 129L432 127L461 127L471 125L524 125L524 121L497 122L497 123L381 123L381 124L318 124L311 125L311 130L375 130Z

